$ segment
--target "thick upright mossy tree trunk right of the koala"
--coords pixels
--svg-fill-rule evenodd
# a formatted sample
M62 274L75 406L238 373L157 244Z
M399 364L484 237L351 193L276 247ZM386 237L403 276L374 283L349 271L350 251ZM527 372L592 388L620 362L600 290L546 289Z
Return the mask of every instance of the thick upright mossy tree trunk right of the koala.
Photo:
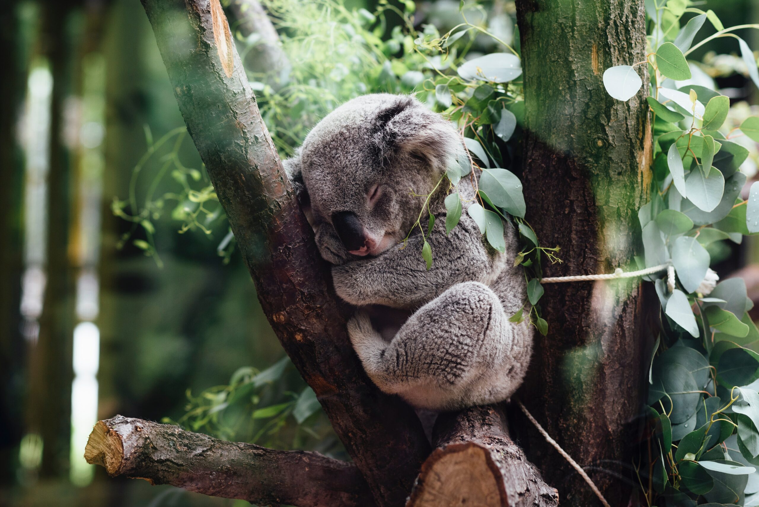
M612 99L602 75L645 60L642 0L517 0L524 69L524 193L541 244L562 264L546 276L635 266L636 210L650 182L642 87ZM645 66L638 66L646 72ZM641 76L647 83L647 76ZM540 301L550 330L536 333L524 404L586 468L611 505L627 504L647 339L639 279L551 284ZM520 417L526 452L562 505L597 505L569 464ZM633 480L634 480L634 476Z

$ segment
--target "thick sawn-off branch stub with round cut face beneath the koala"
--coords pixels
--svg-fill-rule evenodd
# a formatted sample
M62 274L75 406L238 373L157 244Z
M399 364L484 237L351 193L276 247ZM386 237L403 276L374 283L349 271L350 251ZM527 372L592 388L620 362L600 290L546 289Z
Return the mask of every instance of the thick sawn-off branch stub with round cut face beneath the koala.
M422 465L407 507L559 504L559 493L509 438L498 405L441 414L433 441L437 449Z

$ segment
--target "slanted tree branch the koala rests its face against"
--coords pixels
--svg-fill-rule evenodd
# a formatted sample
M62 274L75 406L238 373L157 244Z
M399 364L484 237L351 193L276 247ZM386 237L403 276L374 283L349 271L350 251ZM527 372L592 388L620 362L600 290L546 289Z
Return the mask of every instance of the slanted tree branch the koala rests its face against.
M219 0L142 0L179 109L274 332L378 505L402 505L430 452L414 411L364 373Z

